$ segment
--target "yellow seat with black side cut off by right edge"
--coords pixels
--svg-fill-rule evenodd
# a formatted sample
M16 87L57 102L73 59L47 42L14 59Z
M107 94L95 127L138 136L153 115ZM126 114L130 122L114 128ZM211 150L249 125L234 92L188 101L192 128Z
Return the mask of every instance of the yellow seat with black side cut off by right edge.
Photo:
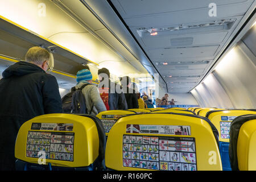
M241 115L230 126L232 170L256 171L256 115Z

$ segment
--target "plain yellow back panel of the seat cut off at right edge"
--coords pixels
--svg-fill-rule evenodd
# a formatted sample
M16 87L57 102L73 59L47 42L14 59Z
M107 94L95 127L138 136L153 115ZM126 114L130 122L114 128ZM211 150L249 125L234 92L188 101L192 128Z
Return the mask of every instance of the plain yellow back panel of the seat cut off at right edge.
M255 117L254 117L255 118ZM237 140L237 159L240 171L256 171L256 119L240 128Z

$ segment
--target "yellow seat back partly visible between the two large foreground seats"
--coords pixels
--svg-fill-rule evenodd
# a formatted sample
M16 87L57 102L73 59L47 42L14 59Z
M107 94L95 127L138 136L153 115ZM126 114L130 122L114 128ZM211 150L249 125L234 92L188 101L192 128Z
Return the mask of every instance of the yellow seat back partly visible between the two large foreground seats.
M106 110L97 114L96 117L101 120L105 134L108 136L110 129L117 122L117 119L126 114L136 114L136 112L131 110Z

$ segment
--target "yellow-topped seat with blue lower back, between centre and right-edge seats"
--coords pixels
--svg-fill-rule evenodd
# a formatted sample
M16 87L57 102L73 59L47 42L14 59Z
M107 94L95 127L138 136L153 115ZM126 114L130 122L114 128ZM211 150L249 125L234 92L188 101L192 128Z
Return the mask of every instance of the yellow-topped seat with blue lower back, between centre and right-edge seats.
M245 114L256 114L255 111L249 110L212 110L208 111L206 117L213 123L219 133L219 141L220 141L220 154L222 160L223 170L230 171L232 168L230 167L229 161L229 131L230 124L233 119L240 115Z

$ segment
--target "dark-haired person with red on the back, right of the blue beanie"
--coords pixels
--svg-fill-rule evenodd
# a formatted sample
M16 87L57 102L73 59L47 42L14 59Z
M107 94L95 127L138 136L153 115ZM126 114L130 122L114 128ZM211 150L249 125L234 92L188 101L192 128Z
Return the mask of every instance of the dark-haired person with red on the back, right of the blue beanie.
M121 88L120 85L115 84L110 81L110 73L107 68L102 68L98 70L98 77L100 84L98 89L100 95L107 110L127 110L127 103L125 99L125 94L123 92L117 93L115 88Z

